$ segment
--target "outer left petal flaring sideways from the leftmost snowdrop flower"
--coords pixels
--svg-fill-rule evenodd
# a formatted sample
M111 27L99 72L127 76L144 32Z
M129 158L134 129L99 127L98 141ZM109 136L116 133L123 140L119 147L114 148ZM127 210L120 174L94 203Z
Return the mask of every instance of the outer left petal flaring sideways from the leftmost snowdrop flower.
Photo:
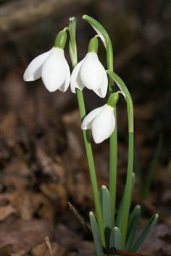
M34 60L30 62L28 68L26 68L23 75L25 81L35 81L41 77L41 68L47 57L49 57L51 49L48 52L44 52L38 55Z

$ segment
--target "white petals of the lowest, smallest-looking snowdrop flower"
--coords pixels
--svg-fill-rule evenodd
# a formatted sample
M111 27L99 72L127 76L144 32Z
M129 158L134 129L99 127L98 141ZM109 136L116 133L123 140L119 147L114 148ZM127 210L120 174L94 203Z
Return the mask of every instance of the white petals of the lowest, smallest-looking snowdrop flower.
M114 127L114 108L107 104L88 113L81 124L81 129L91 129L95 143L101 143L110 137Z

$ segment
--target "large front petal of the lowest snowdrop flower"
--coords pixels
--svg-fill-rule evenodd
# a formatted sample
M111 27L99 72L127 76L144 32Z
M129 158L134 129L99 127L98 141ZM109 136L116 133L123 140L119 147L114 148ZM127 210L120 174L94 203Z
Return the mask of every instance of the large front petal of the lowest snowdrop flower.
M106 104L101 113L92 122L91 129L95 143L101 143L110 137L114 131L114 126L114 109Z

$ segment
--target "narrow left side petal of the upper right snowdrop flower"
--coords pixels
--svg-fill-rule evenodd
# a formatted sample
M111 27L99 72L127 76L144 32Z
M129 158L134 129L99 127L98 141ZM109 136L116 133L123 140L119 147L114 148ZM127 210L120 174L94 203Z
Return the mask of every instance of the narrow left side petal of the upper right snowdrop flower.
M76 88L82 90L84 87L82 81L80 80L80 76L78 76L78 73L80 72L80 67L83 64L84 59L85 58L83 58L83 60L81 60L77 65L75 65L75 68L73 69L71 74L70 87L71 87L71 92L73 93L75 93Z

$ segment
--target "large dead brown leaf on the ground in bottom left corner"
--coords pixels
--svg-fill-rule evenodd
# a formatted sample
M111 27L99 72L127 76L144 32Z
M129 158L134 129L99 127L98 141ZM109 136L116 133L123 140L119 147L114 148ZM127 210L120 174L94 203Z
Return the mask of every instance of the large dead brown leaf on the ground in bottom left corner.
M12 252L23 250L26 253L40 244L45 236L51 238L52 233L52 225L45 220L9 218L0 224L0 247L12 244Z

